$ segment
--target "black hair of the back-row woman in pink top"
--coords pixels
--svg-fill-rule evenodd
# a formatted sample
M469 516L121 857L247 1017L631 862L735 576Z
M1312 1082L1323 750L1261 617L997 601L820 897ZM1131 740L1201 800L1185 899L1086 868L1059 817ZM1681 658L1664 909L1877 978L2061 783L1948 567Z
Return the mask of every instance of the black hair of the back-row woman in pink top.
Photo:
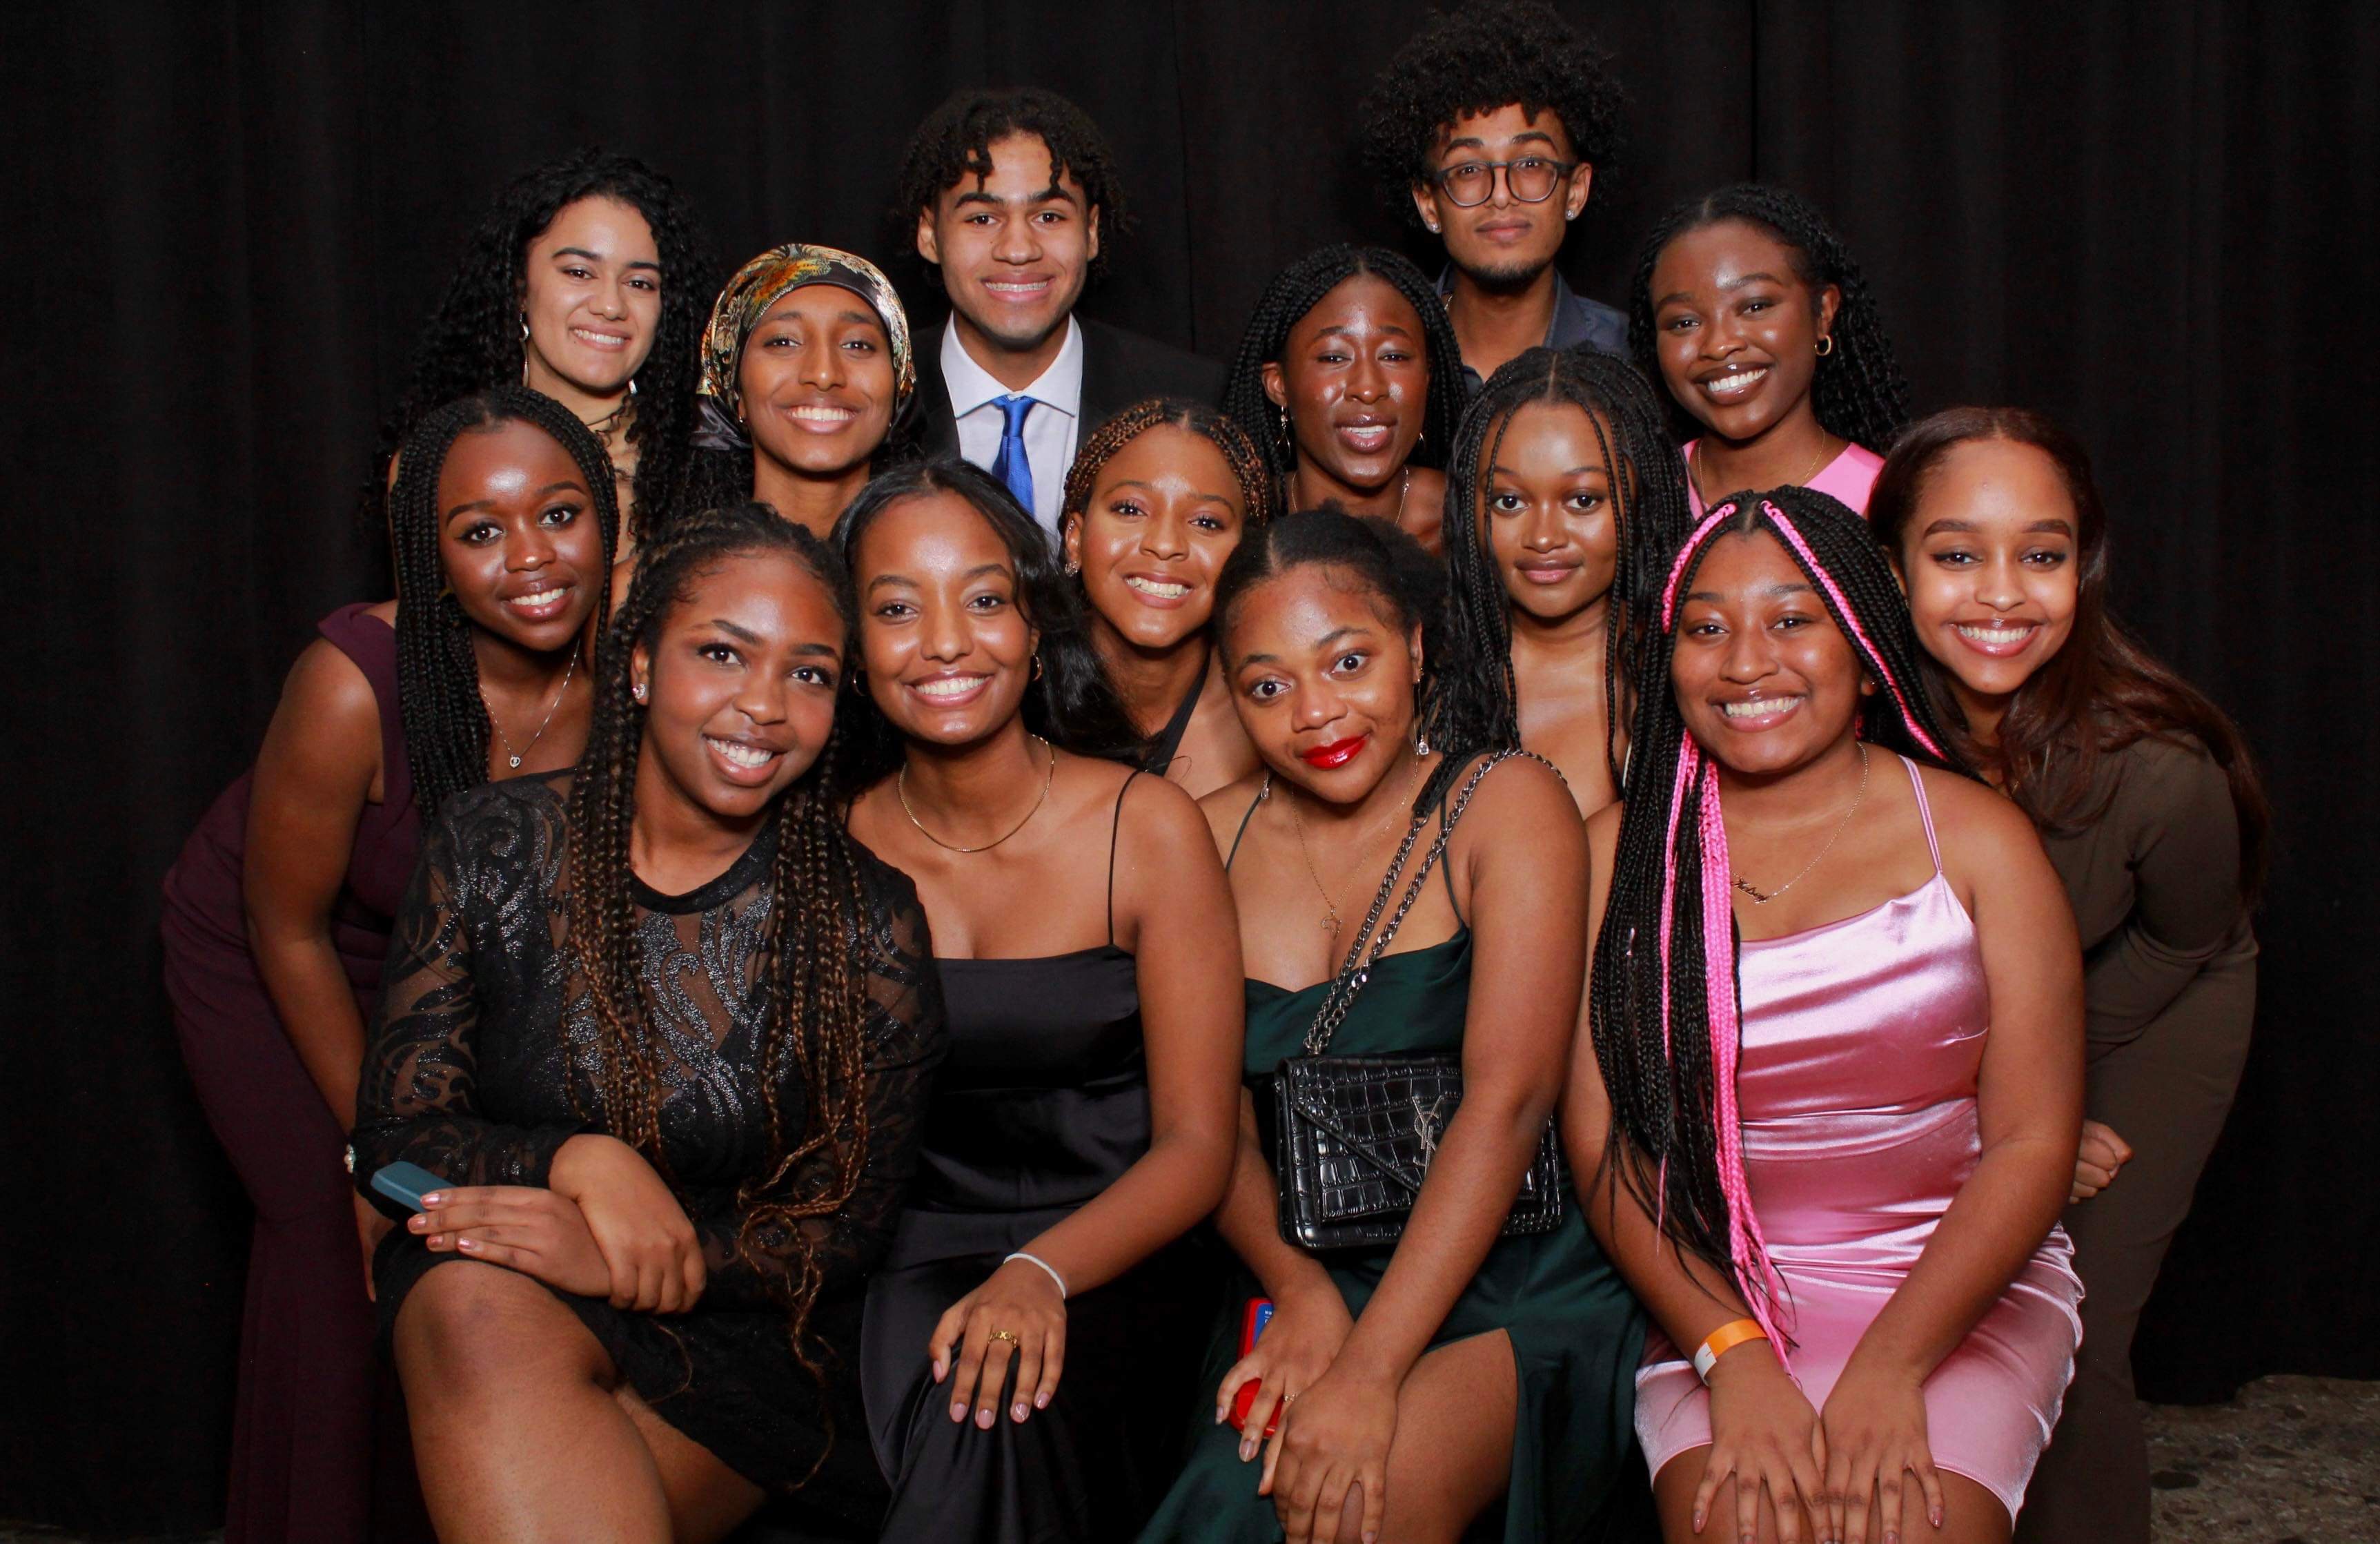
M1842 293L1835 307L1830 338L1833 352L1818 357L1818 374L1809 383L1809 404L1818 414L1818 426L1830 435L1866 445L1883 454L1909 421L1909 383L1892 357L1892 338L1875 309L1875 293L1861 274L1852 250L1842 245L1825 216L1790 188L1771 183L1737 183L1697 200L1683 202L1661 216L1661 224L1645 238L1637 257L1635 285L1628 290L1628 352L1647 381L1661 381L1661 362L1654 357L1652 319L1652 271L1661 262L1668 243L1704 226L1726 221L1759 226L1792 252L1795 278L1816 295L1823 285ZM1702 433L1687 412L1671 404L1671 426L1680 440Z

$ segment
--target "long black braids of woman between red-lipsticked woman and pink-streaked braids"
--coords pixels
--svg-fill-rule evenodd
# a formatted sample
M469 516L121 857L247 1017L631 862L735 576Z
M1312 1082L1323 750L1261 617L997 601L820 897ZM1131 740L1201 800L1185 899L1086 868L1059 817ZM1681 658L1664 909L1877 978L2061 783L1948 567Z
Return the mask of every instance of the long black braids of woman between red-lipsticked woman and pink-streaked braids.
M1685 502L1685 462L1668 440L1661 400L1626 359L1595 350L1533 347L1504 364L1464 412L1454 431L1454 457L1447 464L1447 630L1468 654L1485 661L1483 688L1449 697L1442 709L1449 723L1433 726L1430 738L1483 745L1521 742L1518 683L1511 673L1511 597L1480 504L1488 495L1497 454L1514 419L1530 404L1571 404L1587 414L1604 466L1611 471L1614 571L1611 602L1604 621L1604 761L1611 785L1621 785L1618 728L1635 680L1628 666L1642 642L1652 611L1652 588L1664 576L1661 564L1685 540L1690 519ZM1452 723L1476 716L1478 723Z

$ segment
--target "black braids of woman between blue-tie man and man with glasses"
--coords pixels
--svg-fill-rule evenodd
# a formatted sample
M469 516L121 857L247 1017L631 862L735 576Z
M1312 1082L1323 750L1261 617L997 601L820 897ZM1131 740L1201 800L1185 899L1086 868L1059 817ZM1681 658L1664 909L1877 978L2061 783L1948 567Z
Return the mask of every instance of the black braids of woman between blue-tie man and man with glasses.
M1385 281L1421 316L1430 393L1421 409L1421 440L1414 445L1411 464L1445 466L1447 445L1454 443L1454 423L1464 414L1464 347L1454 340L1447 302L1404 255L1388 247L1338 243L1307 252L1264 288L1264 300L1257 302L1247 331L1240 333L1240 352L1233 354L1230 374L1223 376L1223 412L1264 452L1264 464L1276 483L1285 483L1297 469L1297 438L1285 423L1283 409L1264 395L1264 366L1280 364L1280 354L1290 345L1290 328L1304 321L1323 295L1357 274Z

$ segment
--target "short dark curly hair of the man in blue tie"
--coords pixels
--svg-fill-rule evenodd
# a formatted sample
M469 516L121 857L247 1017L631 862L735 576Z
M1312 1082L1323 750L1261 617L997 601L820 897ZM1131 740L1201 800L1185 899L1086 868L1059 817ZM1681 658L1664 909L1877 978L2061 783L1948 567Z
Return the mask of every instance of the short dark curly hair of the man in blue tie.
M1097 278L1107 271L1109 245L1130 228L1123 186L1116 178L1116 157L1088 112L1038 86L959 90L926 114L900 164L900 183L888 216L892 250L907 252L912 247L916 216L942 202L942 193L969 176L990 176L992 145L1012 133L1040 138L1050 148L1052 176L1071 174L1083 186L1085 216L1092 212L1100 216L1100 255L1090 259L1090 276ZM942 283L940 269L933 264L926 269L933 271L935 283Z

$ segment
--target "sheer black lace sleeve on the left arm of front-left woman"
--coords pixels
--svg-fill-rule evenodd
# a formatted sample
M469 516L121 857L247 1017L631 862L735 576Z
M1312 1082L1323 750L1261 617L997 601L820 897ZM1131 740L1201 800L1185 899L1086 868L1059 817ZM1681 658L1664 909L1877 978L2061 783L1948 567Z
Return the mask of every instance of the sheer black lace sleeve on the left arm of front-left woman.
M450 1185L545 1185L555 1151L583 1125L502 1125L478 1104L490 987L531 994L547 944L547 871L562 806L545 787L481 787L428 823L397 911L355 1111L355 1182L412 1161ZM497 983L495 978L507 980Z

